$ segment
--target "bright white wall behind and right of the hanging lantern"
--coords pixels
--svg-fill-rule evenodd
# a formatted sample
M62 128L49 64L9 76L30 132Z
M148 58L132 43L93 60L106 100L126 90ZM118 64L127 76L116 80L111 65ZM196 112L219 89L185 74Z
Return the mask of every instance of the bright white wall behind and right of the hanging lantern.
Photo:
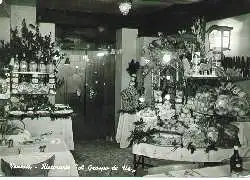
M250 13L207 23L211 25L233 27L231 31L230 51L225 51L226 56L250 56Z

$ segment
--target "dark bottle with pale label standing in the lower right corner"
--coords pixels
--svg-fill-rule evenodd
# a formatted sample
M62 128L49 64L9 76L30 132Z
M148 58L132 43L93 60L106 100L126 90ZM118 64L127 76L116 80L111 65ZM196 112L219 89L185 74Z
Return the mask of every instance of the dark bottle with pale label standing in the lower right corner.
M238 146L234 146L234 154L230 158L231 176L237 176L243 170L243 161L239 155Z

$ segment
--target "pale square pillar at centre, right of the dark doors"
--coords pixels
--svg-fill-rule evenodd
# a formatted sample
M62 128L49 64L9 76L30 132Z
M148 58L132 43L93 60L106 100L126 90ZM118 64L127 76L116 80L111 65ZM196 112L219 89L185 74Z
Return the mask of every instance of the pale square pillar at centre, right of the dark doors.
M117 129L119 113L121 108L121 91L128 87L129 74L126 69L132 59L136 59L137 52L137 29L122 28L116 31L116 48L121 49L122 53L116 56L115 70L115 130Z

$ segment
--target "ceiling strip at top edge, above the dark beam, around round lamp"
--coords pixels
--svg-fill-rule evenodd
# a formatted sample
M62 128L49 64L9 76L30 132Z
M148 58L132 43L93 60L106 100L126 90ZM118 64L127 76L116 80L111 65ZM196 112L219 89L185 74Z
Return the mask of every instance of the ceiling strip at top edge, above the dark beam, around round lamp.
M190 4L201 0L133 0L130 15L156 12L174 4ZM39 0L38 7L50 10L120 14L121 0Z

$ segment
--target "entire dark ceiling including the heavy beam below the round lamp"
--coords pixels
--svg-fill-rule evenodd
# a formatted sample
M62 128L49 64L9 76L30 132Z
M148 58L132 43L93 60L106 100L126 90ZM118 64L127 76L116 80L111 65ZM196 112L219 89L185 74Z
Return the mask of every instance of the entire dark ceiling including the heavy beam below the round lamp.
M139 36L176 33L194 17L214 20L250 12L250 0L133 0L127 16L119 12L121 0L37 0L37 20L56 24L59 38L114 43L116 30L137 28Z

